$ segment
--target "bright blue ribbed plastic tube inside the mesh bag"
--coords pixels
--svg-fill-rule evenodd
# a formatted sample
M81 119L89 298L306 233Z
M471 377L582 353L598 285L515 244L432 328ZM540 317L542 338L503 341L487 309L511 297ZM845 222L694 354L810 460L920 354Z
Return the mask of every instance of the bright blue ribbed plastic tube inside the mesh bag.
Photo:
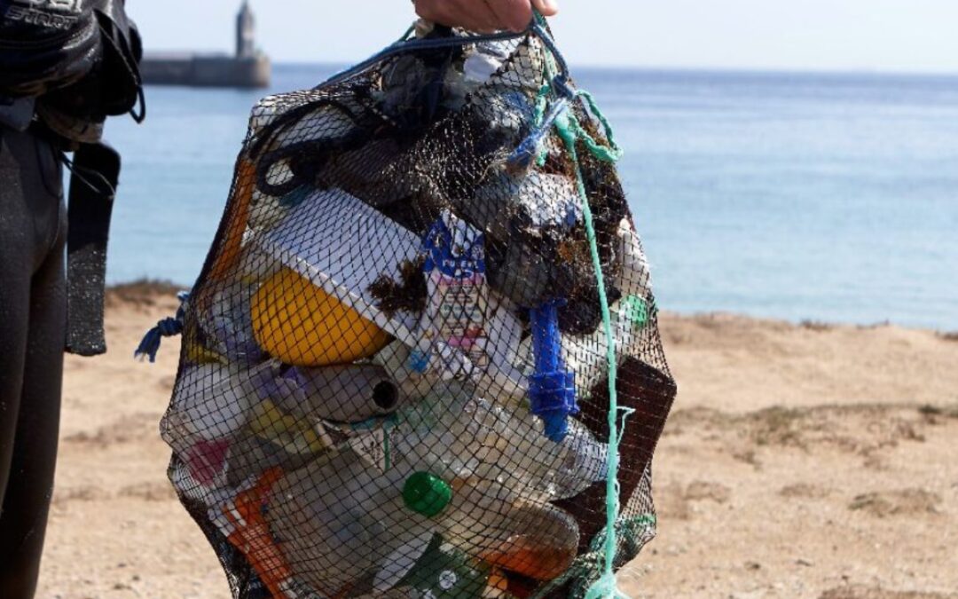
M565 369L559 334L561 301L546 302L530 311L536 370L529 380L532 413L542 419L545 436L561 443L569 431L569 416L579 413L576 373Z

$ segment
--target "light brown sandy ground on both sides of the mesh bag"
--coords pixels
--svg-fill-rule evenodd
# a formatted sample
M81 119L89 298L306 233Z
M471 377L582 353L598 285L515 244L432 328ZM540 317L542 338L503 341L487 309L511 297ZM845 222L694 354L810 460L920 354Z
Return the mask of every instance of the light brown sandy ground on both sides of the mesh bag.
M109 354L67 359L40 597L229 596L166 480L178 343L131 359L175 307L114 290ZM667 314L663 337L680 393L633 597L958 599L954 335Z

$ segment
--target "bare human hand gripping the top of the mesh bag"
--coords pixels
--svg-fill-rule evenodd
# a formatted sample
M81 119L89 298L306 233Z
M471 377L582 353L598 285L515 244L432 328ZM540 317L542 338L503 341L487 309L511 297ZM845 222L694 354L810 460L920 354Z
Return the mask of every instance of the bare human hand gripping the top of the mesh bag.
M422 18L474 32L508 29L521 32L533 20L533 9L545 16L559 12L556 0L414 0Z

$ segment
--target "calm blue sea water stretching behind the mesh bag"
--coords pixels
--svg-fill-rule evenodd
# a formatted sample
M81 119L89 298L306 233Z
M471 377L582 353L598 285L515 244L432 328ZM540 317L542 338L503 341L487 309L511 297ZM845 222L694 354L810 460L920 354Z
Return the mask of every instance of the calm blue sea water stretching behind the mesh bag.
M277 65L274 89L336 69ZM958 329L958 77L575 71L663 310ZM111 123L125 168L108 280L189 287L262 91L149 87Z

